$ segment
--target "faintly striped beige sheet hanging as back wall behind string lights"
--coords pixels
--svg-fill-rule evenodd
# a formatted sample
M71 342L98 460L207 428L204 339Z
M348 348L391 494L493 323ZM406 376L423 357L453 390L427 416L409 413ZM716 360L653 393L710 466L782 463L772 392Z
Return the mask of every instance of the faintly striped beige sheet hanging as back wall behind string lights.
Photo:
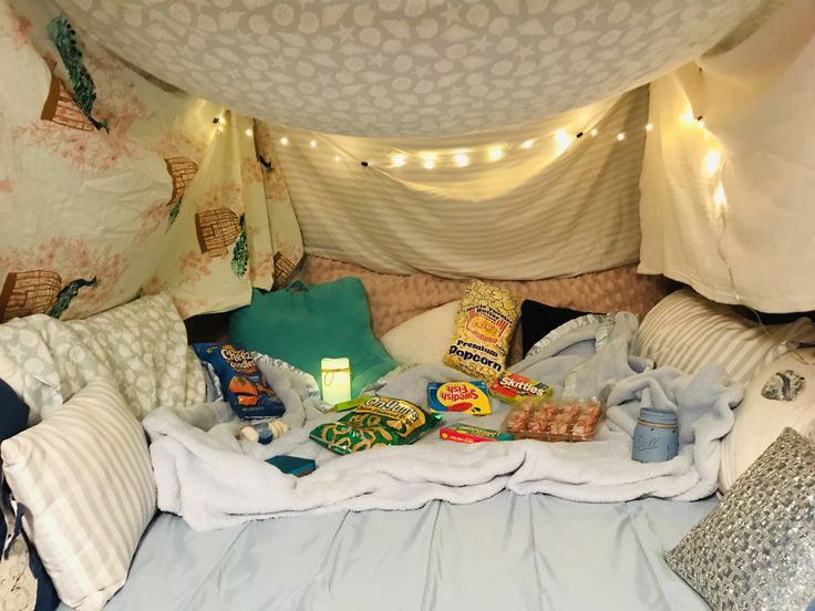
M638 260L647 113L641 87L548 121L398 149L276 128L277 154L309 253L392 273L576 276ZM396 155L404 165L394 167Z

